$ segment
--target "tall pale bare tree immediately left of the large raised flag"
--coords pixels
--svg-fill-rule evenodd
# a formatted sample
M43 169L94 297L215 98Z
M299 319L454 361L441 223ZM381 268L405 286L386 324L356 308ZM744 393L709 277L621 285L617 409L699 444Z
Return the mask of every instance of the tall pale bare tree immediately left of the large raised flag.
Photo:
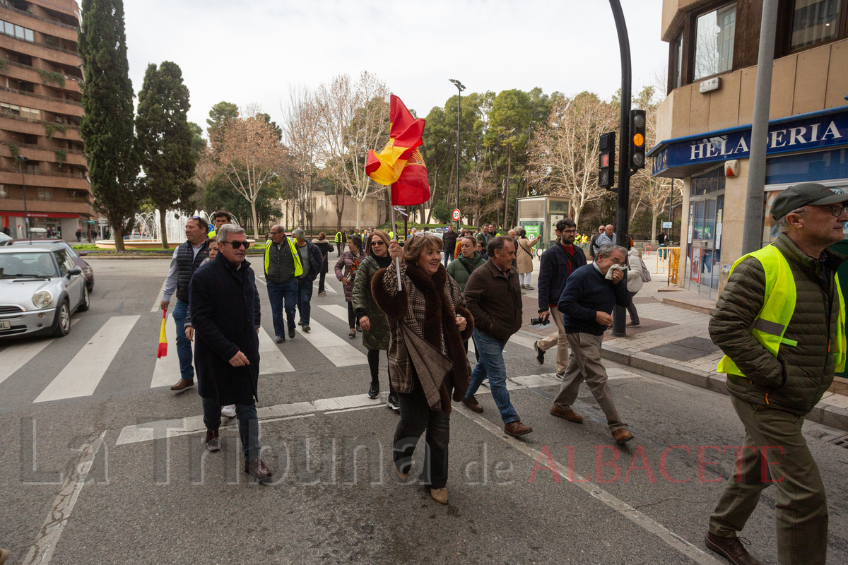
M365 198L383 190L365 174L365 162L369 149L379 151L388 141L388 94L385 83L367 71L355 82L338 75L315 91L319 160L334 184L354 198L357 228Z

